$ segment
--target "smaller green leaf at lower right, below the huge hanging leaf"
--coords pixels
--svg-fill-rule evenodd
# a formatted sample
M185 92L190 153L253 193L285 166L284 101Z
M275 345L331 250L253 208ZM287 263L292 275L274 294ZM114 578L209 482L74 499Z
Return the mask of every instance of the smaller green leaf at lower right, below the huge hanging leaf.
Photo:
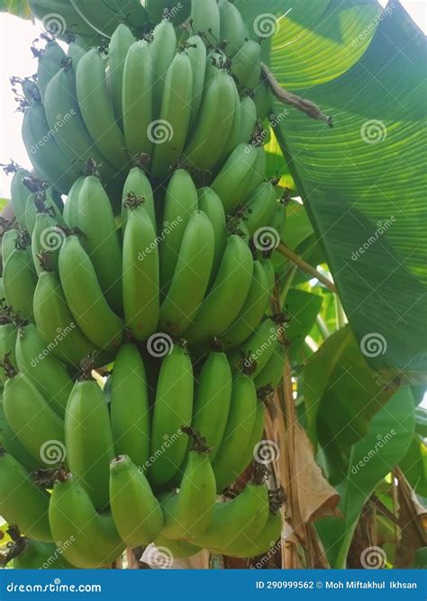
M347 553L363 505L378 482L404 457L415 426L413 396L402 388L378 411L364 439L350 452L347 474L337 487L343 520L328 518L319 523L325 551L334 568L345 568Z

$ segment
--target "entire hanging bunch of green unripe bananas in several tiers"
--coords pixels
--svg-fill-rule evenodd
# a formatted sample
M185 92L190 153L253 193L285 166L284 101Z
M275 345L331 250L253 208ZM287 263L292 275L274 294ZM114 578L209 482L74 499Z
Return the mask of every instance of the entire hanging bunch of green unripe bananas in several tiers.
M77 39L48 41L23 80L33 170L11 167L2 223L0 514L27 537L17 565L58 541L51 567L151 542L258 555L281 529L263 474L219 495L264 462L284 360L259 43L226 0L31 4Z

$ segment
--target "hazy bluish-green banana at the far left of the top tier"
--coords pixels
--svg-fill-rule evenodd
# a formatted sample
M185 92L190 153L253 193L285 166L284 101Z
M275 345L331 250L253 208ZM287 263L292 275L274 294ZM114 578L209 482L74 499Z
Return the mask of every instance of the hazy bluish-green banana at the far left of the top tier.
M58 123L58 113L56 120ZM33 102L23 117L23 142L28 156L44 179L49 180L61 194L68 194L78 172L50 131L43 105Z

